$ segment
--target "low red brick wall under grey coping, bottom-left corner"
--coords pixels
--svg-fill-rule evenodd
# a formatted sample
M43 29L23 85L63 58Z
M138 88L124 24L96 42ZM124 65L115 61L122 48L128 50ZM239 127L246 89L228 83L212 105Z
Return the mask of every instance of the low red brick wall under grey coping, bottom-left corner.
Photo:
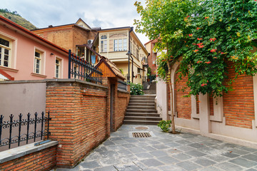
M2 171L25 171L25 170L51 170L56 165L56 147L49 147L39 152L33 152L24 157L10 160L0 164Z

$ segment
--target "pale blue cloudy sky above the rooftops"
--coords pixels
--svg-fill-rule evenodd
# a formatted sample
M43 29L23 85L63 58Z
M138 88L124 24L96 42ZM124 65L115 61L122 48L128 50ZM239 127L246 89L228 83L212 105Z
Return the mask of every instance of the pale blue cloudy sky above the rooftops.
M135 0L1 0L1 9L17 11L38 28L74 24L79 18L91 27L133 26L140 19ZM135 26L134 26L135 28ZM142 43L148 38L138 34Z

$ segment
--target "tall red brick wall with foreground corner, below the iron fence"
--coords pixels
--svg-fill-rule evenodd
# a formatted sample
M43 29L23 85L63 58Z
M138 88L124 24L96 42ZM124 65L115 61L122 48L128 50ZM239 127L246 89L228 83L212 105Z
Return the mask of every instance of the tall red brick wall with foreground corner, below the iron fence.
M59 141L56 165L74 167L109 137L106 88L78 82L48 82L50 139Z

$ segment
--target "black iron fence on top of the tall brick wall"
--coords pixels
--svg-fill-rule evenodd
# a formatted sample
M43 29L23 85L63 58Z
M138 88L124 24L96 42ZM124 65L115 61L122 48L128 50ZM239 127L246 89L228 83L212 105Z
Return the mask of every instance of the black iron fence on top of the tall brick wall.
M102 84L102 76L100 68L94 68L94 65L69 50L69 78Z

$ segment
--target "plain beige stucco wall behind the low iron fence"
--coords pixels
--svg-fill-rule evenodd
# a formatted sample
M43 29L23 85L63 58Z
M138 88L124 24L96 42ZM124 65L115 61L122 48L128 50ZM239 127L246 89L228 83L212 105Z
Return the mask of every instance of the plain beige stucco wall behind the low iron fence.
M14 120L19 119L19 114L23 115L23 119L27 118L27 114L39 113L46 110L46 83L34 81L32 83L22 83L22 81L1 81L0 82L0 115L4 115L4 121L9 120L9 115L14 115ZM22 133L26 133L26 126L22 127ZM40 128L40 125L37 127ZM39 130L39 129L37 129ZM9 129L3 129L2 138L9 136ZM29 133L34 131L34 125L30 126ZM18 135L18 128L14 128L12 135ZM7 136L7 137L6 137ZM36 139L40 140L39 138ZM29 140L33 142L33 140ZM25 142L21 142L24 145ZM0 151L6 149L0 147ZM11 145L17 147L17 144Z

